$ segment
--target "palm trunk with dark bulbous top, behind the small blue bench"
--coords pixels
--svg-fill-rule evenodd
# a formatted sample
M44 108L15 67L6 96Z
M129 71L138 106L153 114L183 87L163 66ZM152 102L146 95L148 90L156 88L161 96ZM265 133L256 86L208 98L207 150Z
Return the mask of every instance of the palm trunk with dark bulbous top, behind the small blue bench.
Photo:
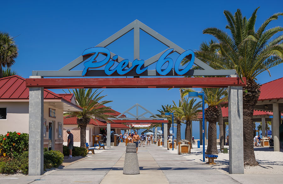
M208 120L208 138L206 154L217 155L217 128L216 122L219 120L219 110L214 106L208 106L205 110L205 118Z

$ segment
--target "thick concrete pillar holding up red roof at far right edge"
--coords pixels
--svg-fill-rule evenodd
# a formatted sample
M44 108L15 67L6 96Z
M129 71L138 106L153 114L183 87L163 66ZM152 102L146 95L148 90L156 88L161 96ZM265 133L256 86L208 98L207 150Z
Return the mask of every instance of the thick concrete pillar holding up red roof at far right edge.
M273 105L273 129L272 129L272 139L274 141L274 151L280 151L280 142L279 142L279 123L281 119L281 114L279 111L278 103L274 103Z

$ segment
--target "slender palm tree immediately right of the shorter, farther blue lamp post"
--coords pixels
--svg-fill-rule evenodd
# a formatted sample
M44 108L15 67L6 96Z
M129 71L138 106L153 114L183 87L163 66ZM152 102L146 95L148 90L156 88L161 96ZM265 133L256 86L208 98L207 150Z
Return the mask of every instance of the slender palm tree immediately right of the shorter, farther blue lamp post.
M183 123L184 120L181 108L182 108L181 100L179 100L178 106L176 105L175 101L173 101L173 107L171 110L174 112L174 121L177 124L176 144L178 144L178 142L181 140L181 123Z

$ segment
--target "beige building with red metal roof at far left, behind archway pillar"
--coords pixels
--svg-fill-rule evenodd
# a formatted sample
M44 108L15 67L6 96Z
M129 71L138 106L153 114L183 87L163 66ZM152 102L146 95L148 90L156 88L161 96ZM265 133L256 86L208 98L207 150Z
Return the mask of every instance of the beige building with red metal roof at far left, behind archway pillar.
M29 88L25 79L0 79L0 134L7 131L29 133ZM56 94L44 89L44 147L63 151L63 113L81 111L73 94Z

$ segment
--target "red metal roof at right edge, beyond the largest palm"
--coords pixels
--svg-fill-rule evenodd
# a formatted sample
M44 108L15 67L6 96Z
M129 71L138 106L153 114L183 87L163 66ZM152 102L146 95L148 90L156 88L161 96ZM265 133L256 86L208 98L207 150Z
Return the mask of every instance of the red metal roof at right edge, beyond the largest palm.
M258 100L283 99L283 77L260 85Z

